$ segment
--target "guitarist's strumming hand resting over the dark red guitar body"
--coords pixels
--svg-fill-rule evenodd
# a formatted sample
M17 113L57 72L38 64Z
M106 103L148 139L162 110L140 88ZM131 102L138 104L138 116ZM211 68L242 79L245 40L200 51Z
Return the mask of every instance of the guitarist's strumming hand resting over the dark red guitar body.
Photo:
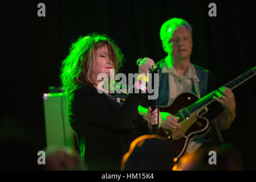
M175 131L180 128L180 124L178 123L179 117L174 117L174 115L170 113L161 112L162 115L162 129L168 131Z

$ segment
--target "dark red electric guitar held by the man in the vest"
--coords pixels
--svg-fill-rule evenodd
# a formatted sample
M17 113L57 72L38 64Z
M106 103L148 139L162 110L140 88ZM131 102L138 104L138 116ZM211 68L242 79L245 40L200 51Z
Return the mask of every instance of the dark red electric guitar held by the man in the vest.
M232 90L255 75L256 67L231 80L224 86ZM176 97L172 105L159 108L161 112L180 117L178 121L181 125L180 129L172 132L159 129L159 135L166 138L172 145L177 162L181 156L186 154L190 141L210 131L210 123L202 115L208 111L207 106L215 101L214 97L218 97L218 94L220 93L217 89L198 100L198 97L193 93L182 93Z

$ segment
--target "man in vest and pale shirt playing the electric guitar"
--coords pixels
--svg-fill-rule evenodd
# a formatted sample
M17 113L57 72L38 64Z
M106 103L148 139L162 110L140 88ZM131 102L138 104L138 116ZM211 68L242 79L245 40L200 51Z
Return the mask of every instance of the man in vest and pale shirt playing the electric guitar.
M160 107L171 105L174 99L184 92L193 92L198 98L202 98L209 92L218 88L217 85L214 84L216 83L216 78L213 77L212 73L190 62L193 47L192 28L186 20L180 18L167 20L161 26L160 38L164 51L168 53L164 59L157 63L157 66L160 68ZM208 108L208 113L205 114L211 125L210 131L201 138L199 137L194 139L193 142L190 142L186 149L188 153L197 151L198 147L201 145L207 146L207 144L214 142L212 146L220 147L221 143L217 141L222 141L223 139L219 129L229 129L231 123L234 121L235 98L233 92L229 88L222 87L219 89L218 97L215 97L215 100L217 102L211 104ZM155 103L157 104L157 101ZM147 102L141 105L143 106L139 106L139 113L147 118L146 107L149 106L149 103ZM181 127L180 123L178 123L178 117L166 112L161 113L161 117L162 129L173 132ZM216 130L216 132L214 132L214 130ZM216 144L216 142L218 144ZM229 147L226 148L233 147L229 150L235 151L234 146L228 146ZM231 166L234 167L235 165ZM241 169L241 166L239 164L236 168L232 168L229 165L226 169Z

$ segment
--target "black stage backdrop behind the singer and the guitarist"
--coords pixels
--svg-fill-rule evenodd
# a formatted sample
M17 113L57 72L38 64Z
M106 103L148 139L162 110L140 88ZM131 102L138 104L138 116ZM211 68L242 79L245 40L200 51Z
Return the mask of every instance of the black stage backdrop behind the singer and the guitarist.
M38 3L46 17L38 17ZM209 3L217 17L209 17ZM121 72L137 72L136 60L166 56L161 24L178 17L193 28L192 62L212 71L221 84L255 67L253 1L5 1L2 2L1 137L29 139L46 147L43 93L59 86L61 61L79 36L108 34L124 53ZM234 89L237 118L224 138L240 150L245 169L255 170L255 77ZM217 88L216 88L217 89ZM15 148L12 150L21 150ZM26 150L23 148L22 150Z

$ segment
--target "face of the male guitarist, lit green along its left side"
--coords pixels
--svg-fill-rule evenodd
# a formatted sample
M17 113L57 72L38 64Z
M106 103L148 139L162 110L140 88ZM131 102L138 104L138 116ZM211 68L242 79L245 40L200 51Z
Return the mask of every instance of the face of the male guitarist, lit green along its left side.
M166 42L164 51L176 58L189 58L192 53L193 41L188 28L178 26L172 37Z

